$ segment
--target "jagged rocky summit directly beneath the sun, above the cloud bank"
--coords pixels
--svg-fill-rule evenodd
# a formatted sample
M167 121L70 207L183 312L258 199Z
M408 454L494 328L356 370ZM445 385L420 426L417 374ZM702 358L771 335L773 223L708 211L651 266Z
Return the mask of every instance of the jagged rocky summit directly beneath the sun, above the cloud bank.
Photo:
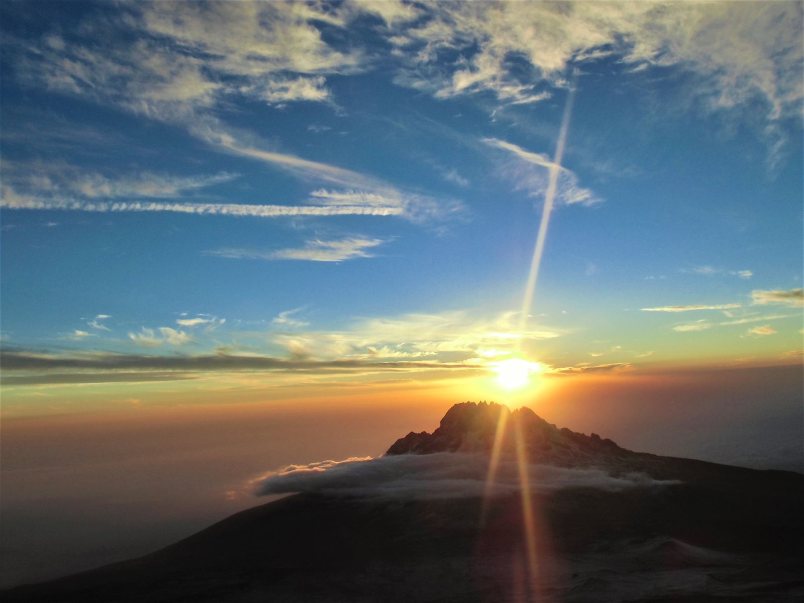
M587 436L567 428L559 429L530 408L523 406L511 411L507 406L494 402L455 404L433 433L408 433L407 436L400 437L386 454L490 453L497 437L498 425L501 424L503 453L512 453L515 450L514 430L519 429L531 461L559 466L583 466L639 456L638 453L620 448L608 438L601 438L597 433Z

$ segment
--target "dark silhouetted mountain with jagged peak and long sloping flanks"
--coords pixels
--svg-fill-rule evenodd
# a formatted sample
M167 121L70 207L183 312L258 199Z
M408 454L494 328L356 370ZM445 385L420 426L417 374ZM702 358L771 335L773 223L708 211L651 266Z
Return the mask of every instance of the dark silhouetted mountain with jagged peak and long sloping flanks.
M408 433L388 455L488 452L501 414L503 454L515 453L519 434L531 463L673 482L537 490L527 499L529 514L519 492L487 501L295 494L148 556L8 589L2 601L804 597L804 475L636 453L595 434L558 429L528 408L484 403L456 404L432 434ZM525 515L534 527L530 545Z

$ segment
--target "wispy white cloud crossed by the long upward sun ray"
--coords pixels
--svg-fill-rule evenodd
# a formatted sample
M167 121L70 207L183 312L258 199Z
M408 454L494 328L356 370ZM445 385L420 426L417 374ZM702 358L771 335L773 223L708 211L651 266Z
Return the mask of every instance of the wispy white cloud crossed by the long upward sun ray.
M601 203L602 199L593 191L580 186L574 172L556 166L546 155L531 153L520 146L496 138L485 138L483 142L514 155L515 159L503 164L502 171L507 178L515 182L517 189L527 191L529 195L544 195L548 190L549 171L558 170L557 201L566 205L580 203L586 206Z

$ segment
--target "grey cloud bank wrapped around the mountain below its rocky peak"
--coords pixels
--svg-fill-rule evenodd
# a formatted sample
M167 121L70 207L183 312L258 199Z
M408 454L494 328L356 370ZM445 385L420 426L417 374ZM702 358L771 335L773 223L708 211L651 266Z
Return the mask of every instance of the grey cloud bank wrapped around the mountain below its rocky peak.
M257 496L321 492L371 498L462 498L486 492L488 470L489 457L482 453L359 457L287 466L257 478L252 486ZM536 492L577 487L618 491L678 483L654 480L643 474L614 477L597 468L548 465L528 466L528 477L531 490ZM515 459L503 458L491 493L511 494L520 488Z

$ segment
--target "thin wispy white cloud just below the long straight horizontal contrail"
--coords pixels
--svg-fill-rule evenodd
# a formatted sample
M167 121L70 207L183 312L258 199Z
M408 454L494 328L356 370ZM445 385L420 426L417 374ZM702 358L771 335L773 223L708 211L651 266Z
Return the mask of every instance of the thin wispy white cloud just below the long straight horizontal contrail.
M359 236L341 240L310 240L304 247L260 251L246 248L221 248L204 252L208 256L249 260L309 260L339 262L361 257L374 257L367 249L384 244L384 239L367 239Z

